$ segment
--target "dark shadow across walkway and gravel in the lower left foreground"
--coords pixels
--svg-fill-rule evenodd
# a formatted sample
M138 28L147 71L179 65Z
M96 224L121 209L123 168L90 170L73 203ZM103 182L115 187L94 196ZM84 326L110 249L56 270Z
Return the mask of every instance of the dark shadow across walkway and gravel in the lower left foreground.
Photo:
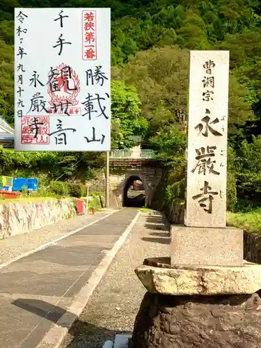
M65 309L37 299L17 299L13 301L13 305L54 323L61 319L65 313ZM69 329L72 340L64 342L61 345L63 348L102 348L106 340L113 340L118 333L130 333L129 331L116 331L83 322L70 312L67 313L66 317L73 319L74 324ZM65 323L60 325L58 322L57 325L68 327Z

